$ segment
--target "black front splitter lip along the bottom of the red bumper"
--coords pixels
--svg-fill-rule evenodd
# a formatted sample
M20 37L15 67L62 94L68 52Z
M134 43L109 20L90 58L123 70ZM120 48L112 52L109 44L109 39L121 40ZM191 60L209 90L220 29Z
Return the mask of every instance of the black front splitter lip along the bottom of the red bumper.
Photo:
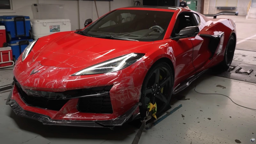
M12 99L12 92L15 87L12 88L12 91L9 94L8 99L6 100L6 104L10 105L12 110L18 116L23 116L27 118L31 118L34 120L38 120L45 125L66 125L66 126L81 126L81 127L108 127L112 128L114 126L121 126L128 120L136 119L139 116L138 114L134 114L137 108L141 105L140 102L136 103L132 108L126 111L123 115L118 116L117 118L110 120L92 120L92 121L79 121L79 120L54 120L50 116L43 115L40 113L32 112L23 109L19 102ZM22 101L20 101L22 102Z

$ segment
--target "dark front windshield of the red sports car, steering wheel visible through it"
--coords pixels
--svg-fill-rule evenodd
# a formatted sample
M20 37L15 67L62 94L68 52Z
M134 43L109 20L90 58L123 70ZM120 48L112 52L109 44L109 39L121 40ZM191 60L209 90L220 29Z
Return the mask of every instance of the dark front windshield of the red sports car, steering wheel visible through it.
M83 34L120 40L156 41L164 38L173 12L116 10L96 20Z

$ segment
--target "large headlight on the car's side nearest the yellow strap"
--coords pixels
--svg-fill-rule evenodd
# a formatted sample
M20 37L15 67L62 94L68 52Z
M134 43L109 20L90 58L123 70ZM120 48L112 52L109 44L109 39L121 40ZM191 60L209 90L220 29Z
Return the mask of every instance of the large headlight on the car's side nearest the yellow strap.
M76 72L72 76L80 75L92 75L92 74L103 74L115 72L120 69L126 68L132 65L134 62L138 61L145 54L142 53L130 53L111 60L101 62L99 64L93 65L91 67L85 68L81 71Z

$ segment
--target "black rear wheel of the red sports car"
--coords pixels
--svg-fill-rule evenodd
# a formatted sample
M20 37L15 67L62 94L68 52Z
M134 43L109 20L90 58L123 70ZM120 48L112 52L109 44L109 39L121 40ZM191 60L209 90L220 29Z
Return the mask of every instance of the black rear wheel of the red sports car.
M235 48L236 48L236 40L234 36L231 35L229 37L228 44L225 50L224 59L216 67L217 68L216 70L219 70L219 71L228 70L234 58Z

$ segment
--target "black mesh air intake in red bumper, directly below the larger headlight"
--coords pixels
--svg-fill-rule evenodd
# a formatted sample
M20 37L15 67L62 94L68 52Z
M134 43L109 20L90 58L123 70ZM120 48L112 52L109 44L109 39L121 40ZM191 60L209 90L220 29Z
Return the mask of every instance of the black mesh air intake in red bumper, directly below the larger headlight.
M112 114L110 95L100 97L85 97L78 101L78 111L84 113Z

